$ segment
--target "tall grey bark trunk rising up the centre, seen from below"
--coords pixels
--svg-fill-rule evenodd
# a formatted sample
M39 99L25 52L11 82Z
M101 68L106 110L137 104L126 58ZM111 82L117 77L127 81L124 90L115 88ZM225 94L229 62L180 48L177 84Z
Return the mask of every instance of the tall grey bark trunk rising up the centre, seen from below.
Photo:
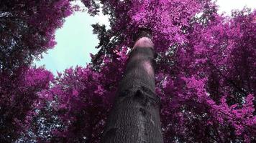
M140 34L106 121L103 143L163 142L160 99L155 94L155 52L151 36L146 31Z

